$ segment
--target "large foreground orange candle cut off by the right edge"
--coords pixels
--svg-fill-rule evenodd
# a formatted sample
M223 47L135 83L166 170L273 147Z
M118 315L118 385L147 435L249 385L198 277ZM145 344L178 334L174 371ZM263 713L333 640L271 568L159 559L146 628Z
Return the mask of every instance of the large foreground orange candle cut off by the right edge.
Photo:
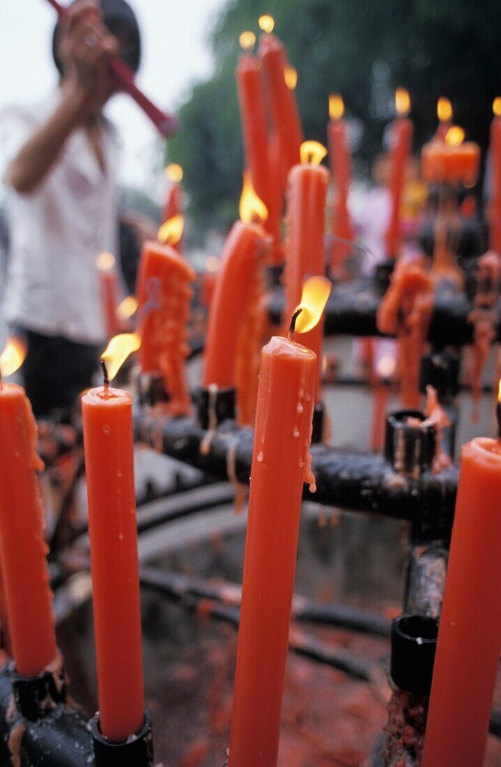
M423 767L481 767L501 646L501 446L463 446Z

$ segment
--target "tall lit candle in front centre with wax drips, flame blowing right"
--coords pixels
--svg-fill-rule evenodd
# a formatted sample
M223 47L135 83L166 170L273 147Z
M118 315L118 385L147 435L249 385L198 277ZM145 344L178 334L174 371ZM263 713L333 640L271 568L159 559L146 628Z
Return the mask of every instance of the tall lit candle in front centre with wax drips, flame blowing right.
M323 295L316 305L309 296L308 308L302 303L298 331L320 318L325 283L330 290L326 278L314 278ZM305 285L305 293L310 289ZM277 761L302 488L315 482L309 445L316 368L315 353L292 334L272 337L262 350L229 767Z

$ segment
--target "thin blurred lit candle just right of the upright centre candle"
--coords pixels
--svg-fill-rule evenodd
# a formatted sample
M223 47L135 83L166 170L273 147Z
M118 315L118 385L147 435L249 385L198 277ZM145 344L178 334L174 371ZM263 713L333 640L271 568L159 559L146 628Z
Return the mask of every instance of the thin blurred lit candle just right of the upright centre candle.
M351 156L346 136L346 124L343 120L344 103L339 94L329 96L328 145L331 173L335 183L335 202L332 216L332 234L330 262L331 274L341 276L344 258L350 252L349 242L353 239L350 215L348 213L348 193L351 182Z

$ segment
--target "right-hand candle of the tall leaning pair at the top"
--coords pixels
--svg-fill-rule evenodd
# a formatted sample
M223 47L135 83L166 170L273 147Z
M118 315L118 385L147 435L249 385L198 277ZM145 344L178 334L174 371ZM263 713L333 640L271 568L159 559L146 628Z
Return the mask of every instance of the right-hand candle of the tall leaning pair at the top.
M269 26L265 28L269 29ZM288 171L300 161L299 150L303 137L295 93L285 80L288 64L284 47L271 31L261 35L259 60L273 128L279 141L282 188L285 189Z

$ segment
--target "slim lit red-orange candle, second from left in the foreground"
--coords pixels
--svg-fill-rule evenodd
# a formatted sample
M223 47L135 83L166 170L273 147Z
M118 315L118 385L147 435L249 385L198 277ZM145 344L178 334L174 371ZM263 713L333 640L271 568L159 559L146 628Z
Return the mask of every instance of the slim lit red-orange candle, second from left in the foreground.
M111 379L137 349L135 334L117 338L103 354ZM132 397L105 373L104 387L82 397L82 417L99 726L124 741L144 719Z

